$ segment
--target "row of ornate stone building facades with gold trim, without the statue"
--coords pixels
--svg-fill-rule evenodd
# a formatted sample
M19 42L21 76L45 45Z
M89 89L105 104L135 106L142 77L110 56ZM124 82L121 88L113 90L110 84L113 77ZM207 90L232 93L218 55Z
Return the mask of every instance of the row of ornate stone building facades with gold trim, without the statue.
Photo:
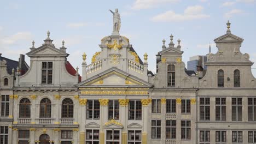
M80 76L65 42L57 49L48 32L27 53L25 74L8 74L0 59L1 143L256 142L253 63L227 25L214 40L218 52L207 54L206 73L196 75L185 70L172 35L156 55L154 75L147 53L142 61L116 33L101 39L91 64L83 54Z

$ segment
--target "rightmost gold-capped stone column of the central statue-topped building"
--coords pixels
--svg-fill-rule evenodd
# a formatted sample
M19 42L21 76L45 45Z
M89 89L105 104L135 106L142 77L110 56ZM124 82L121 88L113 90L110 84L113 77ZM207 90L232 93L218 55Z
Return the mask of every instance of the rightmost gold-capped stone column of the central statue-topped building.
M149 99L142 99L142 144L147 144L148 138L148 103Z

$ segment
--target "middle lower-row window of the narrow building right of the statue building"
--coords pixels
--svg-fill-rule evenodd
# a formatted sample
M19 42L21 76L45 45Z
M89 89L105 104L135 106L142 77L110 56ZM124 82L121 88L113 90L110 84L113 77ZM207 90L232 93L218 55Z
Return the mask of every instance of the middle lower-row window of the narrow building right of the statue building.
M176 121L166 121L165 135L166 139L176 139Z

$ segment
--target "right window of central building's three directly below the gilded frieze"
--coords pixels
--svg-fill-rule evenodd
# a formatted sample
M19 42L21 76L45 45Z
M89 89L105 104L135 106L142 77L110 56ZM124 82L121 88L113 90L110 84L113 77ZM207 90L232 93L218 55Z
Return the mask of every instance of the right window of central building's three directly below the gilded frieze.
M141 120L142 118L142 105L141 100L129 101L129 120Z

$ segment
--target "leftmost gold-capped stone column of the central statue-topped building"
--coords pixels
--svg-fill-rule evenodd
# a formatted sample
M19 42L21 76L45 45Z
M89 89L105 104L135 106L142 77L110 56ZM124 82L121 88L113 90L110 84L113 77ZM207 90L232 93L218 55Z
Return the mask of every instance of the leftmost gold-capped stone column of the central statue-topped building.
M79 99L79 144L84 144L85 143L85 110L86 110L86 104L87 104L87 99Z

